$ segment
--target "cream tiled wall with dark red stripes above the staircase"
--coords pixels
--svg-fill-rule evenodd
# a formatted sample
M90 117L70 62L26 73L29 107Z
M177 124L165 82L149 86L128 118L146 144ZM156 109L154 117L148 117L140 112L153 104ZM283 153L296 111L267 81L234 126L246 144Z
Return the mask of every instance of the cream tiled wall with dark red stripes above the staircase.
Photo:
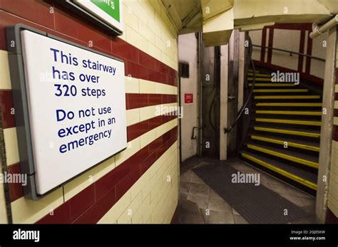
M252 43L259 46L270 46L287 51L304 53L318 58L325 58L323 41L326 34L317 38L309 38L312 31L311 23L280 23L267 26L262 30L250 31ZM287 70L287 72L299 72L300 76L322 85L324 79L323 61L299 57L281 51L253 48L252 58L257 65L263 65L272 70Z

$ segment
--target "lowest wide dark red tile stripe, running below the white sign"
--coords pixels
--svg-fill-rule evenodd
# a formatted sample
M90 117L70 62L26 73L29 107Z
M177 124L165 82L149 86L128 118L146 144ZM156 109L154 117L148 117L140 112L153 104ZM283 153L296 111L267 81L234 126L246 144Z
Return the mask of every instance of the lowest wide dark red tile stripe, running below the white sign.
M53 215L47 214L37 224L96 224L123 194L177 140L177 127L140 149L91 186L83 189Z

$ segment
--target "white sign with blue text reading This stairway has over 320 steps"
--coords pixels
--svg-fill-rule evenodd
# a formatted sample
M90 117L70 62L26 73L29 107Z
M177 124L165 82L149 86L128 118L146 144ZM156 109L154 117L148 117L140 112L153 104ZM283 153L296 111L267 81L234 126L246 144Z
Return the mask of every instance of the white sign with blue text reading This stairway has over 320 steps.
M36 191L127 147L124 63L21 31Z

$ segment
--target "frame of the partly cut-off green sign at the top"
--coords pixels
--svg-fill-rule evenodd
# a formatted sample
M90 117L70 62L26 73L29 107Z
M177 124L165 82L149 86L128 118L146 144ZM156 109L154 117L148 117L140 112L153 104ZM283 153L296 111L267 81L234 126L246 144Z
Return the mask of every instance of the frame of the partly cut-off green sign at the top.
M91 13L91 11L88 11L88 9L85 9L83 6L76 4L75 1L73 0L55 0L58 4L60 4L61 6L66 7L66 9L69 9L70 11L73 11L74 13L76 13L78 16L83 17L84 19L86 19L87 21L90 21L91 23L93 23L94 25L109 31L111 33L113 33L113 35L115 36L121 36L123 35L123 11L122 11L122 1L121 0L117 0L119 1L119 7L120 7L120 23L121 23L121 28L118 28L116 26L113 26L112 24L103 21L102 19L100 19L98 16L96 16L95 14ZM89 17L89 18L88 18Z

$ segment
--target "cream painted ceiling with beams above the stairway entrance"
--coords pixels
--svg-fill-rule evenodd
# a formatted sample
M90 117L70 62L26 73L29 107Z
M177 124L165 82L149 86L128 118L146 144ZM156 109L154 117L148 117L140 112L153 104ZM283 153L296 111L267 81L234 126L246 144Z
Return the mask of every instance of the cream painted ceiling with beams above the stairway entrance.
M162 0L179 34L203 31L206 46L226 44L232 30L274 23L324 23L338 0Z

